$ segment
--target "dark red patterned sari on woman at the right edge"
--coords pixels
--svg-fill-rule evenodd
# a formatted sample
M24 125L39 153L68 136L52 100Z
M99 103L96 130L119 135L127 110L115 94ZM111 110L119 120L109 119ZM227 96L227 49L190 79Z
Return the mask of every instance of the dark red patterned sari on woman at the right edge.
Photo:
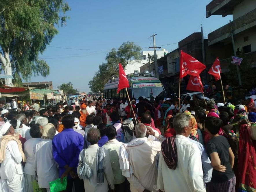
M252 140L247 124L240 125L238 151L238 191L256 191L256 141Z

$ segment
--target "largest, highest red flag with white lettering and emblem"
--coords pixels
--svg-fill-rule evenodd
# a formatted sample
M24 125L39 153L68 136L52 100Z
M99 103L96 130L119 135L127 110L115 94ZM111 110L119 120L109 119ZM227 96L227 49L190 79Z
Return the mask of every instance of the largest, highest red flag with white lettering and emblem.
M181 50L180 79L186 75L198 76L206 66Z

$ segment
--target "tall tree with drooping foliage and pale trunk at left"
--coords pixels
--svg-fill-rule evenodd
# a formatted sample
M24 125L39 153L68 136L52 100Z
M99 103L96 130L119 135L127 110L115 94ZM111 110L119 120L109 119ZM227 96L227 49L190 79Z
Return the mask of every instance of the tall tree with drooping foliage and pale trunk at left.
M70 10L64 0L1 0L0 1L0 64L6 75L13 75L20 84L22 78L49 75L49 66L40 60L54 36L55 25L66 24ZM60 16L62 15L62 16ZM5 79L12 86L12 79Z

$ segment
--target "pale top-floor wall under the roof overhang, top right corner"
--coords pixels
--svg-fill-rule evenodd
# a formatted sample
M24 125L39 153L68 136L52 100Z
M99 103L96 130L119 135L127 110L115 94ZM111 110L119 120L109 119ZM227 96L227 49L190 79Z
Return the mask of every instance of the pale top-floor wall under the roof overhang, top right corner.
M256 0L244 0L235 6L233 10L233 20L243 16L244 14L256 8Z

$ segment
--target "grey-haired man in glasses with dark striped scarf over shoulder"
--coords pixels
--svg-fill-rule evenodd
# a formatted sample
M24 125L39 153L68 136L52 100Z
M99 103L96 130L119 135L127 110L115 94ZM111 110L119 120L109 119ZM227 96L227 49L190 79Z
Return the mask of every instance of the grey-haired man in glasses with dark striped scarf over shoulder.
M190 117L181 113L174 117L176 137L162 143L158 165L157 190L206 191L198 146L189 141Z

